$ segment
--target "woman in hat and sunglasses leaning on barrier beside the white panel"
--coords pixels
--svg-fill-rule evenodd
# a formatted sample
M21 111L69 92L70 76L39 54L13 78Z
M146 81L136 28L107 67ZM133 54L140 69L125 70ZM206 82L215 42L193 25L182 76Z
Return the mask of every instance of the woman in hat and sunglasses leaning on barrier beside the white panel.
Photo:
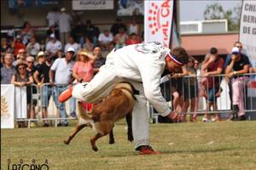
M26 67L27 67L26 63L21 60L17 63L16 73L13 75L13 77L11 79L11 83L14 84L16 87L26 87L26 86L32 85L33 78L26 71ZM19 100L19 99L16 99L16 101L17 100ZM31 101L32 101L31 90L29 90L29 88L26 88L26 103L27 103L27 105L31 105ZM16 105L20 105L20 104L16 102ZM29 112L27 111L27 115L28 115L27 118L30 118L28 113ZM25 127L25 126L26 126L25 122L18 122L18 127Z

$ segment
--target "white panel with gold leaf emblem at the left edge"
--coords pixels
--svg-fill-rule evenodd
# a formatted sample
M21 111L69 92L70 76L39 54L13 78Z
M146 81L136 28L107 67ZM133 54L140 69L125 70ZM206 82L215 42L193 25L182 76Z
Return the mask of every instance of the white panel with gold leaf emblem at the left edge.
M15 127L15 85L1 85L1 128Z

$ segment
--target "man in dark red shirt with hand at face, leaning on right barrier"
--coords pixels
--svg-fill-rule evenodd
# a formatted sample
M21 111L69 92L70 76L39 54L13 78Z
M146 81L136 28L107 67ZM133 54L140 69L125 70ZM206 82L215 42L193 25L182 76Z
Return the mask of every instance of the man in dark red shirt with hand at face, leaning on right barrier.
M207 89L207 111L210 111L210 108L213 107L213 111L218 111L217 107L217 94L220 90L220 78L211 77L214 75L221 74L224 66L224 59L218 56L218 49L210 49L210 57L202 65L202 71L204 71L203 76L207 77L207 81L204 82L204 86ZM205 114L205 117L202 120L203 122L216 122L219 121L218 113L215 114L214 118L211 120L209 114Z

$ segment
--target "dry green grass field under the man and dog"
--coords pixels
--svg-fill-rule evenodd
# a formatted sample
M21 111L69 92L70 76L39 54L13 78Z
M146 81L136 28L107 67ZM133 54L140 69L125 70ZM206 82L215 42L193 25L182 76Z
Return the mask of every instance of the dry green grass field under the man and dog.
M12 163L43 164L49 169L256 169L256 122L151 124L151 144L160 156L139 156L126 140L125 123L114 127L115 144L108 137L90 149L95 134L84 128L63 144L72 127L36 127L1 130L1 169Z

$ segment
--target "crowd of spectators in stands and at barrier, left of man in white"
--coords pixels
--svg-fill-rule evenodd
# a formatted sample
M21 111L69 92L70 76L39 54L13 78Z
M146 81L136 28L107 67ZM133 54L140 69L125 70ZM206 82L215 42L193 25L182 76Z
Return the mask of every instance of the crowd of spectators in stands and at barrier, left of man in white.
M141 31L134 18L127 25L117 19L109 30L101 32L90 20L85 24L75 20L66 8L52 8L46 19L49 29L40 40L29 21L14 35L1 38L1 84L26 87L28 119L37 117L38 103L32 94L40 93L44 127L49 127L48 106L52 96L61 117L58 126L68 126L66 106L58 101L58 95L70 84L90 82L105 64L108 53L113 48L141 42ZM75 117L75 99L69 102L69 114ZM20 104L19 100L17 103ZM20 121L17 126L27 125ZM30 126L37 126L36 122L31 121Z

